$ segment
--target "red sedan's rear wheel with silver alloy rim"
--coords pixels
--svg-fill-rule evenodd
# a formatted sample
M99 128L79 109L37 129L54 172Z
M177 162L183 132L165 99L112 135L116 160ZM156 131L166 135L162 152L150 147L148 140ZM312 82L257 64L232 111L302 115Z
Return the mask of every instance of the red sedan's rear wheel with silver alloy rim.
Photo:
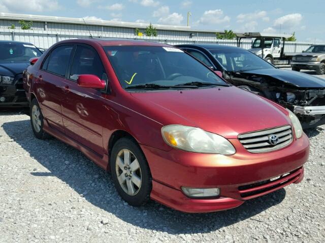
M32 132L38 139L48 139L51 136L43 130L44 116L37 99L30 103L30 125Z

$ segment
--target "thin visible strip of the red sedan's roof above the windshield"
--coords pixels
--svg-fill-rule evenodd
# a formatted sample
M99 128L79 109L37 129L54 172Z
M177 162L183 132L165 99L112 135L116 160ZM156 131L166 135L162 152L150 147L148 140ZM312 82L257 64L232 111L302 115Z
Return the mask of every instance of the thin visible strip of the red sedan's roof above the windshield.
M156 47L171 47L167 44L148 42L136 39L119 39L119 38L81 38L67 39L60 43L98 43L101 46L156 46Z

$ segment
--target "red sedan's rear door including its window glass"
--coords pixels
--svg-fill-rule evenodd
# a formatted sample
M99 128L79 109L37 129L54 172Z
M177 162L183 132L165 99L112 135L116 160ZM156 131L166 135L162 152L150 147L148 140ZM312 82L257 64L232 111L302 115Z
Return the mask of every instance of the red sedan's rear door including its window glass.
M73 49L74 45L61 45L53 49L45 58L36 77L37 98L44 117L50 127L60 132L64 132L61 108L64 99L62 87Z

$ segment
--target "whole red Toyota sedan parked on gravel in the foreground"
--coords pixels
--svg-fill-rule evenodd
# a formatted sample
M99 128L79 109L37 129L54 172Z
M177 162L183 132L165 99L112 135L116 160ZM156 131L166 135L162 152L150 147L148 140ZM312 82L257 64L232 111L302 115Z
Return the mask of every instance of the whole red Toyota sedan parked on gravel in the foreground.
M309 142L295 114L178 48L63 41L25 70L24 83L35 136L110 170L130 205L152 198L184 212L226 210L304 177Z

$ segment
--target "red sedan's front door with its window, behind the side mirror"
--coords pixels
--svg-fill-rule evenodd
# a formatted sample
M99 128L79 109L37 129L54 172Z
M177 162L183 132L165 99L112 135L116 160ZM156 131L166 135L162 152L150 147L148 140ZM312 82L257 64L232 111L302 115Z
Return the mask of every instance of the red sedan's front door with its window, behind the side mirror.
M106 80L107 75L95 49L78 45L75 51L68 79L64 82L66 98L62 103L63 125L66 135L91 151L103 154L103 124L105 117L104 91L83 88L77 85L80 74L93 74Z

